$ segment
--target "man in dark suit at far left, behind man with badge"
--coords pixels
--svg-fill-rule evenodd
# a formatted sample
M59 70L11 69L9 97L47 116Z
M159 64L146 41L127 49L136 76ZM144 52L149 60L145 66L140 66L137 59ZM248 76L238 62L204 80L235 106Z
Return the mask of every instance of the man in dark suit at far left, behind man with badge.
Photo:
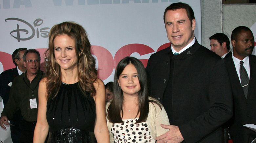
M4 106L8 102L9 94L11 90L12 81L16 76L21 75L23 72L26 71L26 68L23 63L23 54L27 48L18 48L12 53L12 61L15 64L15 68L3 71L0 74L0 96L3 99ZM14 126L11 127L11 139L13 143L19 142L19 136L20 136L20 127L19 122L21 117L20 110L18 110L14 115L13 119L10 121L10 123Z

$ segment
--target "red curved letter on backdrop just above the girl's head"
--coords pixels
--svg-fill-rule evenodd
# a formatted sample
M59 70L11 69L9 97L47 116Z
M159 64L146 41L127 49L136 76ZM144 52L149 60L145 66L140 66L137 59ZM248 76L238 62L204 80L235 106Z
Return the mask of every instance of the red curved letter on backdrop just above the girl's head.
M114 58L114 67L116 69L117 67L117 64L118 62L123 59L124 57L126 56L131 56L132 53L139 53L139 55L145 55L145 54L148 54L148 53L152 53L152 52L155 52L152 48L150 48L149 46L147 45L144 45L144 44L128 44L128 45L125 45L123 47L121 47L116 55L115 55L115 58ZM147 66L147 63L148 63L148 59L139 59L144 67Z

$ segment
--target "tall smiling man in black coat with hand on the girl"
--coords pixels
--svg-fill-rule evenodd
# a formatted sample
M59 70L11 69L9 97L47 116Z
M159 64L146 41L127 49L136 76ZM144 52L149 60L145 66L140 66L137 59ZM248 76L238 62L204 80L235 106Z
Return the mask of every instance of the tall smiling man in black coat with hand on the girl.
M170 121L169 126L161 125L169 131L158 136L157 143L221 143L221 126L233 113L224 60L197 42L189 5L171 4L164 23L172 44L152 54L146 67L151 94Z

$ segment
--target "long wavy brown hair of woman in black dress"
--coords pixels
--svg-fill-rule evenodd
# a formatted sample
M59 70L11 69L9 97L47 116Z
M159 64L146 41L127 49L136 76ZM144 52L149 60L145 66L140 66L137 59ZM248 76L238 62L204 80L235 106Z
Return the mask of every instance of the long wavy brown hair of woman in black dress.
M91 54L91 44L84 28L75 22L68 21L54 25L49 33L49 48L45 52L47 99L53 99L61 85L60 66L55 60L53 45L55 37L59 35L67 35L75 40L79 87L84 94L90 92L91 96L94 96L96 89L93 83L97 79L97 70L95 58Z

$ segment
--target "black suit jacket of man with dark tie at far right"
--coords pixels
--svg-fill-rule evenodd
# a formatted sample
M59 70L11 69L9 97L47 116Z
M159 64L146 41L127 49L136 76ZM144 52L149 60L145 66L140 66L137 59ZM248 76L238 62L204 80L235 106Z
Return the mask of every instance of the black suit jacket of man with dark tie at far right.
M234 143L251 143L256 132L244 127L245 124L256 124L256 56L249 56L250 80L247 99L239 81L232 56L225 59L234 100L234 114L228 122Z

